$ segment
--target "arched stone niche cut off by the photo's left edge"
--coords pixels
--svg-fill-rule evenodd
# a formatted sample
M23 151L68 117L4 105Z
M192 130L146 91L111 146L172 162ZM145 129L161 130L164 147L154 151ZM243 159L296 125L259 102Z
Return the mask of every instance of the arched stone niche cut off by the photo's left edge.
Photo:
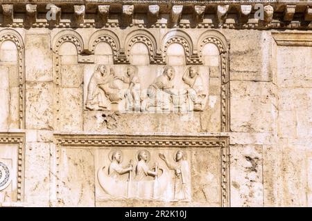
M25 128L24 43L18 32L0 31L0 129Z

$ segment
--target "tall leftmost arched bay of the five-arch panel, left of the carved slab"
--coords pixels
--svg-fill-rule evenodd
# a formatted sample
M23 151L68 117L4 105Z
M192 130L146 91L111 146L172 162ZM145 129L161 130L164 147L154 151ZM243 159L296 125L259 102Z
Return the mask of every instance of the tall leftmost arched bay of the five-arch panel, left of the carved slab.
M73 30L58 32L53 38L55 128L60 131L83 129L83 71L78 55L84 44Z

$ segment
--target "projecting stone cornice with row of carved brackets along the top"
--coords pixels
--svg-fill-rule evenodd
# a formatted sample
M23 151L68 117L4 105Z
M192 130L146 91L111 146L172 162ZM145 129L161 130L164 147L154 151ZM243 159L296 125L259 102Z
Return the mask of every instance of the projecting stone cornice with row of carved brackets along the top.
M141 26L156 28L312 29L312 1L164 1L80 0L3 1L0 26L89 28ZM56 19L48 21L48 3ZM263 6L263 18L254 15ZM52 9L51 9L52 10ZM55 10L55 8L53 8Z

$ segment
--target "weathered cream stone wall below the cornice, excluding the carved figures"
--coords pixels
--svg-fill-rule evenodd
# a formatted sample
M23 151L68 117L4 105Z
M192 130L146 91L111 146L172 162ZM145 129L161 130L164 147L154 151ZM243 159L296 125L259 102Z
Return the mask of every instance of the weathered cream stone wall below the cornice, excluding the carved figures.
M0 160L10 171L0 202L311 206L311 36L275 29L0 28ZM186 68L197 66L205 108L191 115L123 113L121 104L90 110L89 81L101 64L119 77L136 66L145 88L165 65L182 88ZM107 197L98 174L115 148L124 168L147 150L150 166L167 171L173 186L175 173L159 154L172 162L183 150L189 198L173 200L174 190L165 200Z

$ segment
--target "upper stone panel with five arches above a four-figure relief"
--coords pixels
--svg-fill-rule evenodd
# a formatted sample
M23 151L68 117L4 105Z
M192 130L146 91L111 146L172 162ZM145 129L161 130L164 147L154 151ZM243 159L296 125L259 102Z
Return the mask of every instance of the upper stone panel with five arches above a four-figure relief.
M53 38L59 131L227 131L228 45L220 32L122 33L63 30Z

